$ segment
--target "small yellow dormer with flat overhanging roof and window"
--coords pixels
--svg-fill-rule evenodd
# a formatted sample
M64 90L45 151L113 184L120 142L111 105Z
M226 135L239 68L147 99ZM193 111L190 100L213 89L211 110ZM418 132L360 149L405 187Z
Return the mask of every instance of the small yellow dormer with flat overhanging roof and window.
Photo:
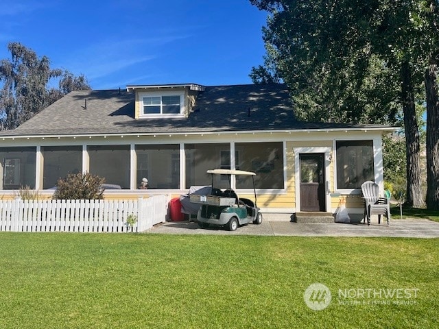
M167 84L127 86L136 93L136 119L187 118L204 86L199 84Z

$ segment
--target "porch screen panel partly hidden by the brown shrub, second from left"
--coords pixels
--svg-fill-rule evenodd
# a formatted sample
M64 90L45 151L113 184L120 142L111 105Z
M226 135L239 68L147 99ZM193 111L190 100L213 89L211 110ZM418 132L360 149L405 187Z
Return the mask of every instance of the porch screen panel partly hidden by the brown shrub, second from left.
M43 188L52 188L60 178L82 171L81 146L43 146Z

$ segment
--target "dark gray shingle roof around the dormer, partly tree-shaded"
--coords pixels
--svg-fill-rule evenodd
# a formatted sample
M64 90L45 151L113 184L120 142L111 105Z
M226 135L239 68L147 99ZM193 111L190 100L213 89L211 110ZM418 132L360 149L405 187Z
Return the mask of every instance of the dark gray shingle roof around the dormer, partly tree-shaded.
M142 134L339 126L296 121L284 84L206 87L198 96L194 109L189 118L136 120L134 93L126 90L80 90L62 97L15 130L2 134Z

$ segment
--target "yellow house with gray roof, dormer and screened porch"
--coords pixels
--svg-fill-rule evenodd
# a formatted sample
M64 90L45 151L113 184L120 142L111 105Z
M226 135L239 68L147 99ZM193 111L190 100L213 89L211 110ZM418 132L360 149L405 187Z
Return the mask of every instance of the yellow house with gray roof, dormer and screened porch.
M58 178L88 171L106 198L181 195L209 185L208 169L254 171L264 216L363 212L361 183L383 189L379 125L297 121L284 84L136 85L73 91L0 136L3 197L30 186L49 197ZM148 188L140 188L147 178ZM216 186L228 187L218 178ZM252 194L245 178L232 182Z

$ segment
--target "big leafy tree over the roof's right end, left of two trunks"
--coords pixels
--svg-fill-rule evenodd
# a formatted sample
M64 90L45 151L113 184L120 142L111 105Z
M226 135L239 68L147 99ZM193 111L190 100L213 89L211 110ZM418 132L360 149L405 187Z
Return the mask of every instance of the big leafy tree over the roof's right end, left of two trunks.
M263 37L297 117L393 123L403 110L409 206L423 206L416 101L426 31L414 16L423 1L250 0L270 13Z

